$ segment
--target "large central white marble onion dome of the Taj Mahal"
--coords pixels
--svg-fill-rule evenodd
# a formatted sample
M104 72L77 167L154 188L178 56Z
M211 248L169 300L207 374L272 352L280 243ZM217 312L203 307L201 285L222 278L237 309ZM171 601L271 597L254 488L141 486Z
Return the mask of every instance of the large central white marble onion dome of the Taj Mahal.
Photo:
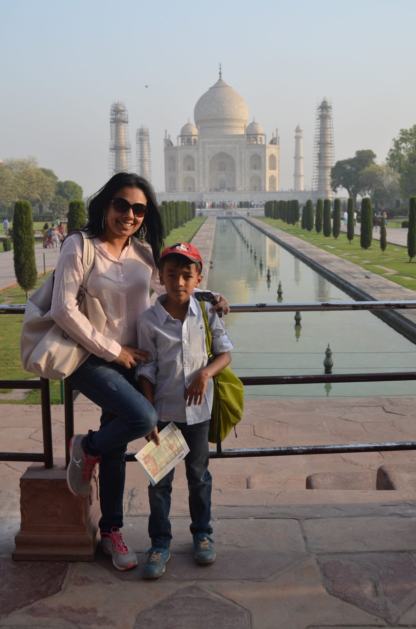
M248 107L233 87L219 80L202 94L194 109L195 125L204 137L243 134Z

